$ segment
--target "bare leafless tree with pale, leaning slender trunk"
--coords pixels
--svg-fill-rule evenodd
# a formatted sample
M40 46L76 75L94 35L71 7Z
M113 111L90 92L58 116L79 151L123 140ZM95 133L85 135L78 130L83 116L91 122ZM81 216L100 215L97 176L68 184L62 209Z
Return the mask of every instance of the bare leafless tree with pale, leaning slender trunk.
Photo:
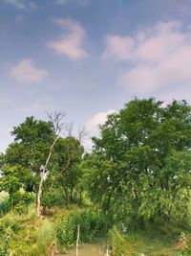
M37 206L36 206L36 214L38 217L41 215L41 199L42 199L43 185L46 179L48 165L53 154L53 148L60 136L62 129L65 127L65 124L62 122L65 116L65 113L55 111L53 113L47 113L47 115L49 117L50 122L53 124L53 143L50 147L49 154L47 156L45 164L41 165L40 167L40 183L38 187Z

